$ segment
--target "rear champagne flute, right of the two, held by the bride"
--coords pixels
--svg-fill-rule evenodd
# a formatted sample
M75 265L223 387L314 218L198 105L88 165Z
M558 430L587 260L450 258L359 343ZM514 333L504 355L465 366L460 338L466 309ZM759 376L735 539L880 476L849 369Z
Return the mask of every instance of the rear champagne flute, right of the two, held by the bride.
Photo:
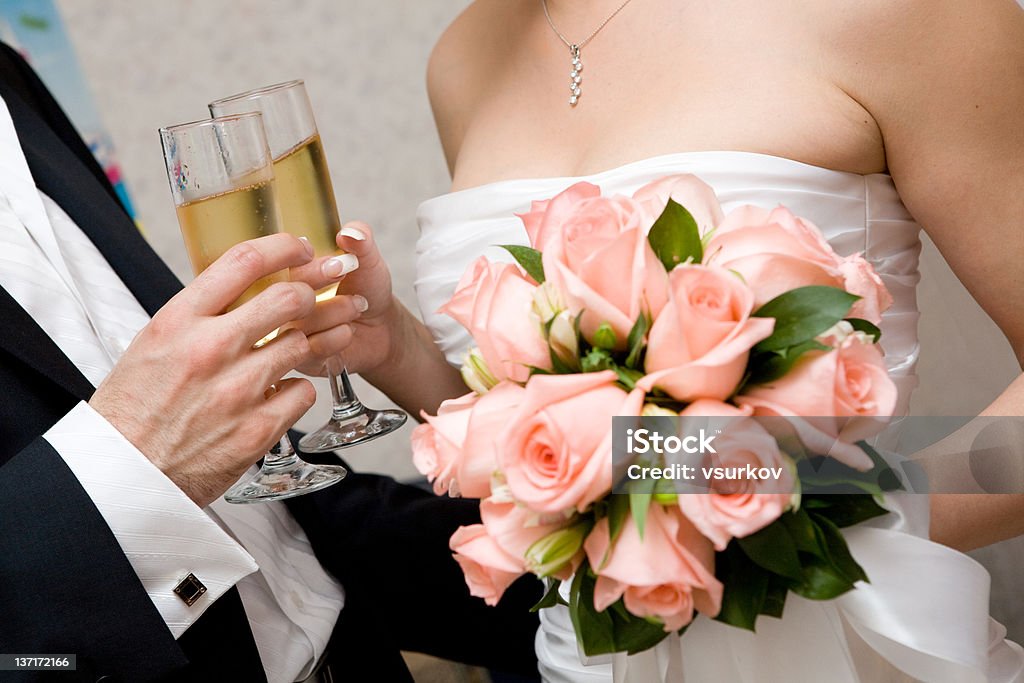
M341 221L304 83L279 83L210 103L210 114L215 117L246 112L263 115L284 228L308 239L316 256L338 253L335 238ZM317 300L333 297L336 290L337 285L321 290ZM326 367L333 399L331 418L299 441L303 451L324 453L355 445L404 424L408 416L402 411L373 410L359 401L341 356L329 358Z

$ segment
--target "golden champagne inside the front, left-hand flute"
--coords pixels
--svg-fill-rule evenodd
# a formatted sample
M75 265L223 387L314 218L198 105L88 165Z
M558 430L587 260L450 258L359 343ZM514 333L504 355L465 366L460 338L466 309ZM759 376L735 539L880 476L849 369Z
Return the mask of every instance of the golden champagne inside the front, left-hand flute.
M196 274L240 242L281 231L272 181L257 182L186 202L177 207L177 213L188 260ZM238 308L270 285L287 281L288 273L284 270L261 278L250 285L227 310Z

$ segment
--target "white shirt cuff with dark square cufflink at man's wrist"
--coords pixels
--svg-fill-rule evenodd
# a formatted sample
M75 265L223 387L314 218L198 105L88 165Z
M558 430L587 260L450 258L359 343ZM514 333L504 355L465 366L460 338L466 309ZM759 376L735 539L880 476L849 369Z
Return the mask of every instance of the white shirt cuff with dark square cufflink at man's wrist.
M237 541L87 402L43 437L92 499L175 638L258 569ZM174 593L189 573L207 588L191 606Z

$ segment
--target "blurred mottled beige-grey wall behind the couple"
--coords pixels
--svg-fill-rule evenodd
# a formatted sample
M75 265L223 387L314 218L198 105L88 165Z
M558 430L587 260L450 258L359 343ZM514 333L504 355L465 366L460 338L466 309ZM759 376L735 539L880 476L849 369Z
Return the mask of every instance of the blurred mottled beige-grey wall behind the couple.
M445 191L447 174L424 86L427 55L467 0L59 0L58 6L113 137L146 236L187 282L187 259L167 187L157 128L206 116L206 102L304 78L330 158L343 219L373 224L398 296L412 292L415 210ZM926 240L927 243L927 240ZM972 415L1017 375L1009 345L926 244L921 288L918 414ZM982 357L979 364L973 358ZM327 395L321 387L322 396ZM371 403L384 398L358 386ZM323 400L302 423L326 415ZM415 476L409 428L346 454L366 470ZM1016 543L1018 547L1024 547ZM986 550L1001 592L1019 566ZM1017 624L1005 593L998 615ZM1018 638L1024 632L1018 630Z

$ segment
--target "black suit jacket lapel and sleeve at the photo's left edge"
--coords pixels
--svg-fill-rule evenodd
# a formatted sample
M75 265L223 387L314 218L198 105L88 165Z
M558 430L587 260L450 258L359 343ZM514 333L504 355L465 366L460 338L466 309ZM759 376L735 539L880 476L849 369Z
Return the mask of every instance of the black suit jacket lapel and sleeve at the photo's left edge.
M48 91L6 45L0 95L37 185L156 312L181 284L139 236ZM89 398L91 384L2 289L0 321L0 649L75 653L81 680L187 680L215 674L209 665L188 673L189 661L216 663L219 642L220 654L233 659L225 671L263 680L233 590L211 607L203 629L180 642L171 636L102 517L41 436ZM197 637L207 630L217 637Z

